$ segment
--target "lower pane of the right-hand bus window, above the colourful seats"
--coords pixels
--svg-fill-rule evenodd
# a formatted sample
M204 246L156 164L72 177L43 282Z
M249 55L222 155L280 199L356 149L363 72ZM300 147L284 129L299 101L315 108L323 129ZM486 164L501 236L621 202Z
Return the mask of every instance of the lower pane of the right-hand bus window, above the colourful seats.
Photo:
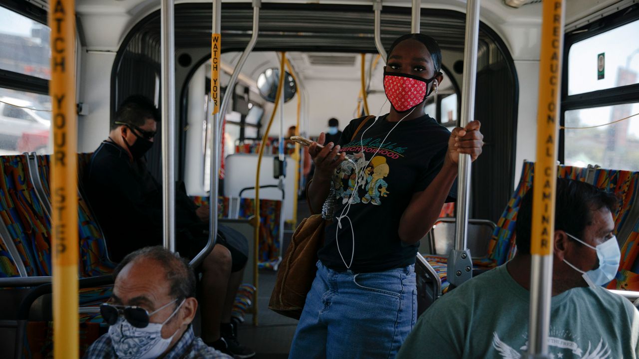
M639 103L566 111L566 165L639 171L639 116L594 127L636 113Z

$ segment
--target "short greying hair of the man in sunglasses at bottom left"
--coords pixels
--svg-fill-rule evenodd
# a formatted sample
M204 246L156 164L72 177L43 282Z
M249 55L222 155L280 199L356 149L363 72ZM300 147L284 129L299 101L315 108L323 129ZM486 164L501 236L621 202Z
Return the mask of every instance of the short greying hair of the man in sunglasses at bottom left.
M118 277L122 268L140 259L153 259L162 265L166 280L171 284L169 294L178 300L196 296L196 275L187 259L174 254L162 246L144 247L128 254L113 271L113 279Z

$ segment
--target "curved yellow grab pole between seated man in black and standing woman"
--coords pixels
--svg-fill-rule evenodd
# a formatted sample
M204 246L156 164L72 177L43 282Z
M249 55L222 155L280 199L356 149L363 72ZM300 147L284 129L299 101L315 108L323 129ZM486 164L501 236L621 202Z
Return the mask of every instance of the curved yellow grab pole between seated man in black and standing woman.
M255 243L253 250L253 279L255 282L255 297L258 298L258 290L259 290L259 282L258 282L258 262L259 262L259 226L261 224L261 219L259 218L259 172L262 167L262 157L264 156L264 146L266 146L266 140L268 139L268 132L271 130L271 125L273 125L273 119L275 119L275 112L277 112L277 107L279 107L280 96L282 96L282 90L284 89L284 63L286 61L286 52L282 52L282 58L280 61L280 77L279 82L277 83L277 95L275 95L275 106L273 107L273 113L271 114L271 118L268 120L268 126L266 126L266 131L262 135L262 142L259 144L259 153L258 153L258 171L256 172L255 177ZM284 111L284 109L281 109ZM282 205L284 205L282 203ZM280 228L280 231L283 231L283 228ZM256 314L253 315L253 325L258 325L258 316L257 316L257 307Z

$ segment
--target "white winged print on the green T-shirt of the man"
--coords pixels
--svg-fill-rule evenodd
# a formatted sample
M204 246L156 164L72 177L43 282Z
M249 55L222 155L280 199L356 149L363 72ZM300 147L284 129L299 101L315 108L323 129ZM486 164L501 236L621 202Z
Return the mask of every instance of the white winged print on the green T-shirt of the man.
M549 357L551 359L613 359L612 350L608 347L608 344L604 343L603 338L599 340L596 346L589 340L588 347L584 352L585 346L581 348L579 344L577 344L578 340L575 340L574 335L571 335L568 331L553 331L551 329L550 334L551 336L548 338L548 351L550 352ZM560 336L564 337L564 339L560 338ZM497 332L493 332L492 344L493 348L497 350L503 359L525 358L528 352L528 342L519 350L516 350L505 342L502 342Z

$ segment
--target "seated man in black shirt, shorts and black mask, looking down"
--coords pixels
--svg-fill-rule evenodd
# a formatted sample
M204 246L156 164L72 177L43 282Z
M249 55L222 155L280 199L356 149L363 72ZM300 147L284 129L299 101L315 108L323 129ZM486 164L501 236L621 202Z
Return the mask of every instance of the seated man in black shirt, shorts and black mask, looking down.
M144 96L130 96L119 107L109 138L96 149L86 192L104 231L109 254L121 261L142 247L162 243L162 186L146 169L144 153L153 146L160 114ZM193 258L208 241L209 209L197 208L184 188L176 191L176 250ZM202 338L239 358L255 355L240 345L231 326L231 309L248 259L242 234L220 226L218 244L204 259Z

